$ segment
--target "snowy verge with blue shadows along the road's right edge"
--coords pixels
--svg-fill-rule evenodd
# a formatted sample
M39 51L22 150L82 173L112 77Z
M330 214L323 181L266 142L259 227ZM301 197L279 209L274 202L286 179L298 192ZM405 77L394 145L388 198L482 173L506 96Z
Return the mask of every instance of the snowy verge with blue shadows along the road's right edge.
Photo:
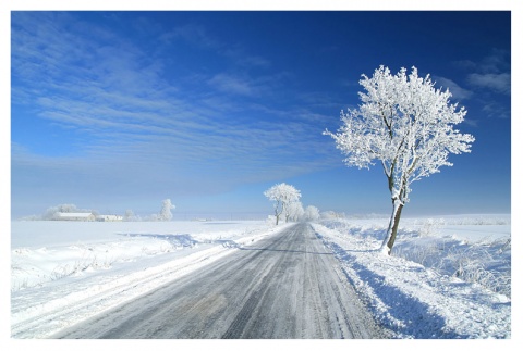
M510 338L511 300L473 283L378 252L374 233L313 224L376 319L398 338ZM510 264L510 263L509 263Z

